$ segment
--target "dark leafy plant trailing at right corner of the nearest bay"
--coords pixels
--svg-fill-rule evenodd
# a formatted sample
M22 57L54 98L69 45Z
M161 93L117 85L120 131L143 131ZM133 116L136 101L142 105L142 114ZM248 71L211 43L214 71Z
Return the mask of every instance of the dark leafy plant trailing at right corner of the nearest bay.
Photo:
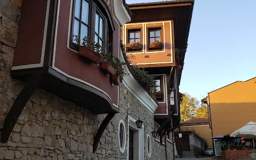
M106 62L111 63L111 65L116 69L116 74L119 75L120 81L122 83L123 77L125 76L123 65L125 65L125 62L121 62L117 57L114 57L111 52L106 52L106 54L103 54L103 59Z

